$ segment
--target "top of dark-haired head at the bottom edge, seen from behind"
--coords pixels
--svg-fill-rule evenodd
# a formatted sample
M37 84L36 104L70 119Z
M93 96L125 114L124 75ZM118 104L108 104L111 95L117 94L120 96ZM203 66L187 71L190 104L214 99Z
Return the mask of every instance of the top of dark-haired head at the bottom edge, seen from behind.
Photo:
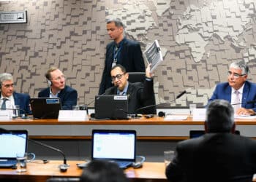
M124 171L114 162L95 160L83 170L81 182L128 182Z

